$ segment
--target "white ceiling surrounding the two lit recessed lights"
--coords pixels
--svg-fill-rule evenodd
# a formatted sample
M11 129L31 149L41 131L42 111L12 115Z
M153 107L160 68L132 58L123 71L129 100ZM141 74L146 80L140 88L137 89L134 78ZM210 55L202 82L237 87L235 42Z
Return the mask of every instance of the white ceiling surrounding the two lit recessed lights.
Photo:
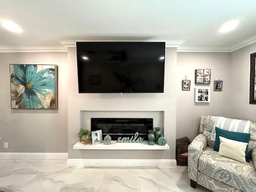
M218 30L236 19L231 32ZM256 42L256 0L1 0L0 47L63 41L178 41L180 48L227 49Z

